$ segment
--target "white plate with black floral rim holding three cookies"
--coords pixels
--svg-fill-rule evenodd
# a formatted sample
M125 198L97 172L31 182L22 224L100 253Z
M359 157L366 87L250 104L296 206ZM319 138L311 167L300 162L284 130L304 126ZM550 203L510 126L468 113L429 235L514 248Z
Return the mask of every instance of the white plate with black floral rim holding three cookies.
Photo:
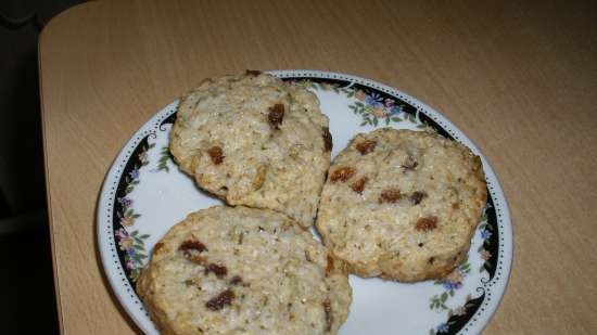
M315 92L330 118L335 156L358 132L378 127L430 127L446 138L474 144L450 121L418 100L354 76L315 70L277 70L290 85ZM98 205L98 240L106 276L130 318L158 334L135 293L135 281L156 241L188 212L220 204L178 170L168 153L177 101L143 125L118 154ZM508 205L482 157L488 198L467 259L445 280L416 284L351 275L353 304L341 335L478 334L495 312L512 261Z

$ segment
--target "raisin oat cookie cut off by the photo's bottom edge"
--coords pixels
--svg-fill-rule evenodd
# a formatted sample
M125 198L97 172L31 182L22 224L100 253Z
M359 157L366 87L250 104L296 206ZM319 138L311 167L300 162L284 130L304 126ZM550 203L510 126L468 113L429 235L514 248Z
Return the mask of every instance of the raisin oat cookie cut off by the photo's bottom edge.
M137 292L164 335L336 334L352 299L345 266L308 231L243 206L172 228Z

